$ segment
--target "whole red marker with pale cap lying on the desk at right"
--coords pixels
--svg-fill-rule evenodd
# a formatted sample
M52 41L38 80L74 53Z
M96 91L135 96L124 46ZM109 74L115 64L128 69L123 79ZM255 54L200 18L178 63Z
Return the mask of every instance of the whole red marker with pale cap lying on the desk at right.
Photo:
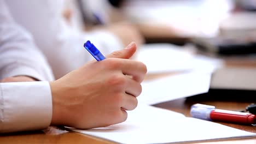
M194 104L191 106L190 115L208 121L256 124L256 116L251 113L220 110L211 105Z

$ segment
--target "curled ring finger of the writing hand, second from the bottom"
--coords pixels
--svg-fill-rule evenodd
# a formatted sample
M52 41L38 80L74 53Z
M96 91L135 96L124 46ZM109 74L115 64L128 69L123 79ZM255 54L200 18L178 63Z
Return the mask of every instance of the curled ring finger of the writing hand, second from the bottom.
M137 105L138 105L138 100L136 97L130 94L124 93L123 104L121 105L121 109L131 111L131 110L134 110L137 107Z

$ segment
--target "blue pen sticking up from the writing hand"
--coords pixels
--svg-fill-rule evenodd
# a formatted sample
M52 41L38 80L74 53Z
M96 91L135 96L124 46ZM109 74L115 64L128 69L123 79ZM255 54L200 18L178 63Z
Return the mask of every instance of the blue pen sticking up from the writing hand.
M88 50L92 56L94 56L94 58L97 61L102 61L103 59L105 59L106 57L104 57L102 55L102 53L96 48L96 46L94 46L94 44L91 43L90 40L86 41L86 43L84 43L84 48L86 50Z

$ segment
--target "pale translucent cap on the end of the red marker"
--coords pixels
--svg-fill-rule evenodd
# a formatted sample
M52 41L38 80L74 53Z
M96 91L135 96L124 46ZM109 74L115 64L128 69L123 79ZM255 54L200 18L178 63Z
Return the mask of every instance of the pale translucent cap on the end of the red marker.
M210 113L215 110L215 106L194 104L190 109L190 116L194 118L204 119L207 121L212 121L210 118Z

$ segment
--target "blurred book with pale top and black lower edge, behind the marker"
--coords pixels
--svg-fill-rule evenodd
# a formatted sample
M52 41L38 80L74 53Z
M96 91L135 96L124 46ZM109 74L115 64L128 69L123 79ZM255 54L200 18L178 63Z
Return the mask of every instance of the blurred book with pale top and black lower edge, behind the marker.
M244 101L252 103L256 94L256 67L227 67L216 70L211 77L208 93L187 97L198 101Z

